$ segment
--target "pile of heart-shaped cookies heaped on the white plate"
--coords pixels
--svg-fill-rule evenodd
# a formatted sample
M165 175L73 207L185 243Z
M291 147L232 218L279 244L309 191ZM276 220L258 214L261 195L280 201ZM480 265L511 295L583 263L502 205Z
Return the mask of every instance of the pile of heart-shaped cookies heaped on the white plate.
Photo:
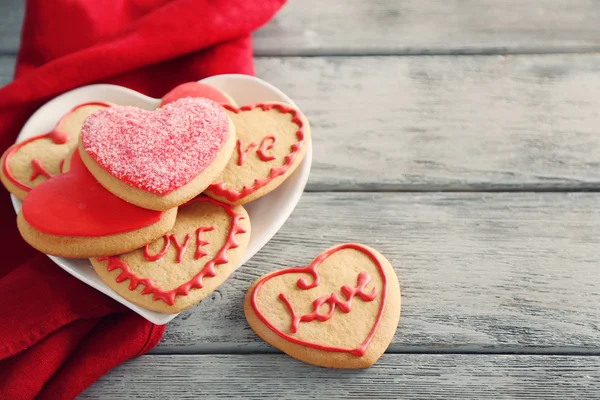
M251 232L243 205L283 183L309 141L307 119L289 104L240 107L190 82L152 111L75 107L10 147L0 178L23 200L17 224L31 246L89 258L125 299L176 313L238 266Z

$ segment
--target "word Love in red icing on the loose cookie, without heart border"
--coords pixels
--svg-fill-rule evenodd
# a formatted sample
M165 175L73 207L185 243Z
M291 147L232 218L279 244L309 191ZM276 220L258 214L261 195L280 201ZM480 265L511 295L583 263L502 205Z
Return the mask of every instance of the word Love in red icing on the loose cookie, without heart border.
M339 308L340 311L346 314L349 313L352 311L352 299L355 296L360 297L366 302L375 300L377 297L377 289L373 289L371 293L365 292L365 288L369 282L371 282L371 275L366 272L361 272L358 274L356 288L352 289L347 285L342 286L342 294L346 296L346 301L342 301L336 293L332 293L329 296L319 297L313 302L313 311L310 314L305 314L302 316L296 314L294 307L292 307L292 303L290 303L290 300L287 298L287 296L283 293L280 293L279 299L283 301L292 315L292 326L290 327L290 331L292 331L292 333L298 332L298 326L301 322L312 322L315 319L321 322L328 321L333 316L336 308ZM323 314L320 310L324 304L329 304L329 311Z

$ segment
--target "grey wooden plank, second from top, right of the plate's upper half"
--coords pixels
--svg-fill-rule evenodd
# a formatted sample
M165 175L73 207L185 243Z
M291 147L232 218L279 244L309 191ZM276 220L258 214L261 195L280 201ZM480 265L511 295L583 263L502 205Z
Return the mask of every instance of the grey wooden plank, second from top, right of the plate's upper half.
M0 79L14 58L0 58ZM259 58L313 126L310 191L600 189L600 54Z

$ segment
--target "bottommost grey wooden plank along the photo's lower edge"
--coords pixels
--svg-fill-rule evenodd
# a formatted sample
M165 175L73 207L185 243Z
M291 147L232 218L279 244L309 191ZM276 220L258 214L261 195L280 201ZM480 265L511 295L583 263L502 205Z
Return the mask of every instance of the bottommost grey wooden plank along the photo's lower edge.
M387 354L368 370L284 355L142 356L81 399L597 399L597 357Z

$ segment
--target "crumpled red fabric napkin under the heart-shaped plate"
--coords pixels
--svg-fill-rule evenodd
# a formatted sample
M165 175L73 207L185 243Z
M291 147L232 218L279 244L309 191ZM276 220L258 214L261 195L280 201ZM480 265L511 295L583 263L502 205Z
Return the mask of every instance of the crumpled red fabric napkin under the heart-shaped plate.
M0 153L50 98L91 83L153 97L254 74L250 33L285 0L28 0L15 80L0 89ZM28 246L0 193L0 398L71 399L154 347L156 326Z

